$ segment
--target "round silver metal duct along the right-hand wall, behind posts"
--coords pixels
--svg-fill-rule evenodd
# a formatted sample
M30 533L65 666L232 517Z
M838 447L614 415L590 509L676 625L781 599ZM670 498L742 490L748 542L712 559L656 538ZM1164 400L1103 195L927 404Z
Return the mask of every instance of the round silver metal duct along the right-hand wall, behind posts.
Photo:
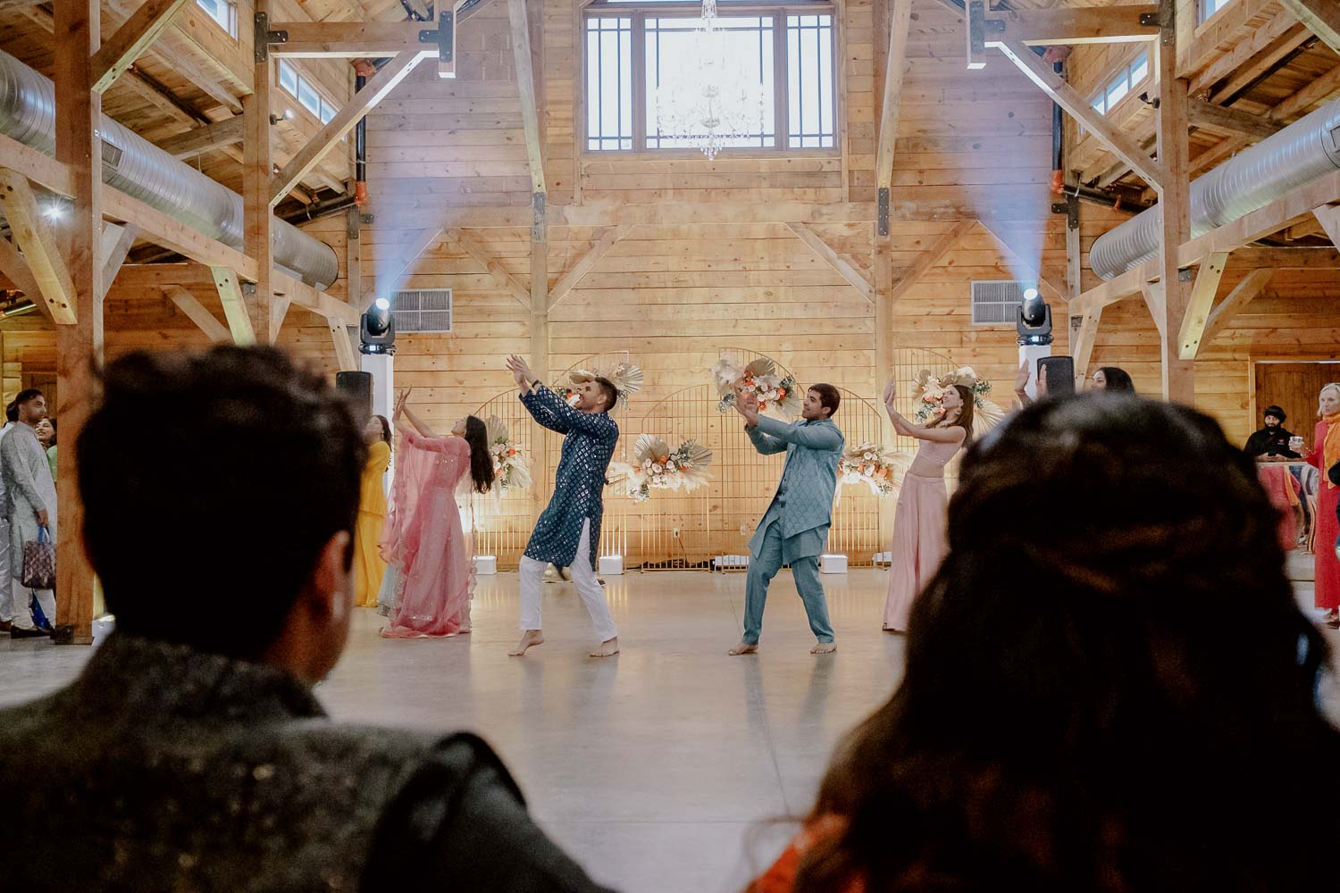
M1191 182L1191 236L1265 208L1297 186L1340 169L1340 99L1238 153ZM1112 278L1159 253L1158 205L1100 236L1089 252L1093 272Z

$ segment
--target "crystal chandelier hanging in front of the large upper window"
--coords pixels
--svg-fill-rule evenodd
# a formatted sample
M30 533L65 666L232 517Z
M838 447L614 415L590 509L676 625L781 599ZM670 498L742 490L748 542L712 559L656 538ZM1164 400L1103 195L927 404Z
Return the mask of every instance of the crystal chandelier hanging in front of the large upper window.
M732 141L764 133L758 66L744 56L730 52L717 0L702 0L687 58L655 92L662 141L697 146L712 161Z

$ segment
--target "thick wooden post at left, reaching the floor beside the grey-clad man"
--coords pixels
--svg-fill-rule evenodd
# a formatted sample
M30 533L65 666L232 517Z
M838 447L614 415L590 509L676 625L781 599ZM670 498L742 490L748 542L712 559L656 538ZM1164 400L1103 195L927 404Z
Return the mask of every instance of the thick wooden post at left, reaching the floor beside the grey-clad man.
M74 323L56 327L56 415L66 442L74 443L91 410L94 364L102 357L94 339L94 309L102 295L102 98L92 91L98 51L99 0L55 4L56 161L67 165L74 193L68 218L66 268L72 287ZM94 573L83 550L83 502L75 475L75 451L60 451L56 474L56 641L92 641Z

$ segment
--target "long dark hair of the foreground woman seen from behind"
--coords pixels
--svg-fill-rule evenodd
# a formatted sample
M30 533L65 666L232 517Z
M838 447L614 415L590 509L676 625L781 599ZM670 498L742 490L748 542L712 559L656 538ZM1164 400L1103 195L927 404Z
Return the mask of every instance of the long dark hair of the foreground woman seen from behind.
M1063 513L1061 522L1047 518ZM1041 402L965 457L892 699L842 746L795 889L1306 890L1340 732L1278 515L1210 418ZM1321 771L1319 771L1321 770Z

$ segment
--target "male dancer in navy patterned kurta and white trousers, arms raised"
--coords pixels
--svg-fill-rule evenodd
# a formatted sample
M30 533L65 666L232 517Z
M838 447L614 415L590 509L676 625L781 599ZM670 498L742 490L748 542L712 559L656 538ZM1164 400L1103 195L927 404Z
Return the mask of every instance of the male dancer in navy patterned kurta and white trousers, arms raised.
M607 379L596 378L576 386L578 402L574 407L540 384L520 356L508 357L507 367L521 388L521 403L535 420L565 435L553 498L536 522L521 557L521 643L508 653L520 657L527 648L544 641L540 589L544 568L552 562L559 568L571 568L572 582L591 615L600 640L600 647L591 656L616 655L619 633L595 576L595 553L600 541L600 517L604 514L600 499L604 473L619 442L619 426L610 418L619 392Z

